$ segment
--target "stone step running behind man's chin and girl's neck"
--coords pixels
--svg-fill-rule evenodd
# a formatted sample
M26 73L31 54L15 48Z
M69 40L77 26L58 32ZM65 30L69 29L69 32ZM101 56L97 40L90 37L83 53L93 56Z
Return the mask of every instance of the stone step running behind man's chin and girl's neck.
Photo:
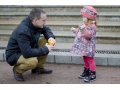
M0 20L1 30L14 30L21 20ZM53 30L69 31L71 27L81 24L80 21L47 21L47 24ZM98 31L100 32L119 32L119 22L98 22Z

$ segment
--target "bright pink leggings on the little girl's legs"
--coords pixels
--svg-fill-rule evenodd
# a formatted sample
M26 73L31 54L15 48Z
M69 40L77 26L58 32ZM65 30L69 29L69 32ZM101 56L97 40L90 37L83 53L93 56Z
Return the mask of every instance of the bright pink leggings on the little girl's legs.
M96 71L96 65L95 65L95 60L93 57L87 57L83 56L84 60L84 67L91 70L91 71Z

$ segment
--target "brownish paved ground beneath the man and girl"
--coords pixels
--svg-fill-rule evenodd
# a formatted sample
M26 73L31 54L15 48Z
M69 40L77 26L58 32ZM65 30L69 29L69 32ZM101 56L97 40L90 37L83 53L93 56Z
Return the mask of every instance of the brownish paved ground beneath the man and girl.
M53 70L49 75L32 75L24 73L25 82L14 80L12 67L6 62L0 62L0 84L86 84L78 79L82 65L46 64ZM97 79L90 84L120 84L120 67L97 66Z

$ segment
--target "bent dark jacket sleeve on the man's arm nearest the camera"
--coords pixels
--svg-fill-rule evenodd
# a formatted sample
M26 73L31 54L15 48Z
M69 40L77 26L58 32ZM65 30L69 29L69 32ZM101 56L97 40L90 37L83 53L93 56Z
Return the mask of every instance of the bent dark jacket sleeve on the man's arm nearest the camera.
M38 57L49 53L49 50L46 46L40 48L31 48L30 36L27 33L19 33L17 36L17 42L21 53L25 58Z

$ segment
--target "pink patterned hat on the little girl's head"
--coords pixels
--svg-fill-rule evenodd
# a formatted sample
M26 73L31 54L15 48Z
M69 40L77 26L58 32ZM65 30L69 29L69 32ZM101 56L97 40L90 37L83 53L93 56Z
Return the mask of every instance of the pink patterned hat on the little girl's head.
M83 17L86 17L88 19L93 19L95 20L97 17L97 11L95 8L92 6L84 6L81 10L80 13Z

